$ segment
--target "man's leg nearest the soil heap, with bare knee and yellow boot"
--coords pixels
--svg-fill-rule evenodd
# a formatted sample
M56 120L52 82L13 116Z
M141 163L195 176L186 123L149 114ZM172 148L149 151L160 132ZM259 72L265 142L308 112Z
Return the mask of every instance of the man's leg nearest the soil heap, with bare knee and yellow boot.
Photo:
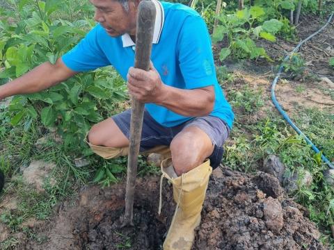
M163 176L173 184L173 197L177 203L164 250L191 249L194 229L200 224L209 176L212 167L217 167L221 161L222 145L228 132L220 119L200 117L173 138L170 144L172 159L161 164Z

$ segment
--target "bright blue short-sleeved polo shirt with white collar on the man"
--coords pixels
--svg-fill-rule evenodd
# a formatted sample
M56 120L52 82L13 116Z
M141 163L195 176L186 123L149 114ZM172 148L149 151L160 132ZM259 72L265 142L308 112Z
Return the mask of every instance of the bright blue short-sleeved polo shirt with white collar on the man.
M216 78L211 40L202 17L179 3L154 1L157 8L151 60L164 84L180 89L214 85L215 103L210 115L221 118L230 128L234 114ZM134 66L134 43L129 35L109 36L97 24L86 37L63 57L75 72L113 65L127 81ZM163 106L146 103L148 113L162 126L177 126L193 117L184 117Z

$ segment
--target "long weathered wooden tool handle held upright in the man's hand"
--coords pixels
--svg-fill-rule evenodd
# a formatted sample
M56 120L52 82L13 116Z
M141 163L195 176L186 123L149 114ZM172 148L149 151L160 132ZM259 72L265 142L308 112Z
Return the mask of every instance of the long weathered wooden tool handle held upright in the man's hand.
M154 32L156 10L152 1L141 1L138 6L136 31L136 58L134 67L148 71ZM144 104L132 98L129 158L127 163L127 189L123 225L133 225L134 190L136 187L137 161L143 128Z

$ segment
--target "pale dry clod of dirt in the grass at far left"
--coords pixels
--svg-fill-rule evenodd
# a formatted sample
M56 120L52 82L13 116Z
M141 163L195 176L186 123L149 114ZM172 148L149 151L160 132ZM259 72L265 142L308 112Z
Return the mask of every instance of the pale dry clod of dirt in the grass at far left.
M45 163L42 160L33 160L29 167L23 170L23 181L27 185L31 185L33 188L36 188L39 192L43 192L45 191L43 188L44 181L54 167L56 167L54 163ZM51 178L50 184L54 185L55 180Z

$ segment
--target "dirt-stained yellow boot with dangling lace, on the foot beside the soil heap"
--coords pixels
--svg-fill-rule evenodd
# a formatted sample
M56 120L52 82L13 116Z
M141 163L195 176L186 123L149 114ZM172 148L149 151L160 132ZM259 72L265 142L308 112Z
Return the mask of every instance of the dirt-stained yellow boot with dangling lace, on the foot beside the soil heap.
M167 159L161 163L161 172L163 173L161 180L165 177L173 184L173 197L177 203L175 215L164 242L164 250L190 250L195 237L194 229L200 224L200 212L212 167L207 160L177 177L171 160ZM160 210L161 204L159 213Z

